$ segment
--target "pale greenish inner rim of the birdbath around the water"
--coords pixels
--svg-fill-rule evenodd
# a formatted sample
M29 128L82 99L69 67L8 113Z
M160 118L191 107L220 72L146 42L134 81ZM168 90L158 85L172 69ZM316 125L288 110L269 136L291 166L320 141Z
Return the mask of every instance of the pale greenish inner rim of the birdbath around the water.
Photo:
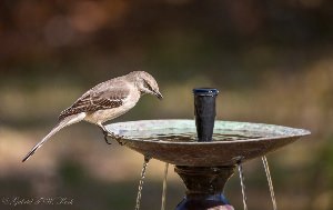
M224 126L226 127L224 127ZM151 127L152 126L152 127ZM191 119L152 119L152 120L132 120L132 121L124 121L124 122L114 122L105 126L109 132L113 132L117 136L122 136L124 131L132 130L133 132L142 133L145 130L155 130L161 131L163 129L180 129L179 127L183 127L182 129L194 129L195 121ZM233 127L234 130L248 130L254 131L260 130L263 133L270 134L268 137L260 137L260 138L249 138L249 139L240 139L236 142L250 142L250 141L270 141L273 139L281 139L281 138L293 138L293 137L304 137L310 136L311 131L300 128L292 128L285 126L278 126L278 124L270 124L270 123L258 123L258 122L241 122L241 121L228 121L228 120L215 120L215 128L214 133L219 131L231 130L230 127ZM174 130L173 130L174 131ZM274 134L274 136L273 136ZM135 138L128 139L131 137L124 136L124 140L131 141L142 141ZM145 142L157 142L155 140L147 139ZM170 143L170 144L228 144L234 143L234 141L206 141L206 142L184 142L184 141L164 141L159 140L159 143Z

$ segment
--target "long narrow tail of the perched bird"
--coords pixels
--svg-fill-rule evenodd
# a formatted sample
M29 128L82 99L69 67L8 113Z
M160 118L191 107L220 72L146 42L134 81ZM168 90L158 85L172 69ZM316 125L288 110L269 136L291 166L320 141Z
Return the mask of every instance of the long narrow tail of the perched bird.
M59 130L63 129L64 127L68 127L70 124L80 122L85 117L85 113L78 113L73 116L69 116L64 119L62 119L39 143L37 143L31 151L23 158L22 162L27 161L42 144L48 141L54 133L57 133Z

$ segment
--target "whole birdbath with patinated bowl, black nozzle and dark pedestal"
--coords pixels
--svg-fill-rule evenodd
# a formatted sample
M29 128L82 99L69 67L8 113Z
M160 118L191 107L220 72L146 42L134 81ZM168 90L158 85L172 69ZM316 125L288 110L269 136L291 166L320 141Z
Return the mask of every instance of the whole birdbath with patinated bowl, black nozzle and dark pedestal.
M215 120L216 89L194 89L195 120L111 123L108 131L144 157L174 164L186 192L176 210L223 209L223 189L239 163L263 157L310 132L282 126Z

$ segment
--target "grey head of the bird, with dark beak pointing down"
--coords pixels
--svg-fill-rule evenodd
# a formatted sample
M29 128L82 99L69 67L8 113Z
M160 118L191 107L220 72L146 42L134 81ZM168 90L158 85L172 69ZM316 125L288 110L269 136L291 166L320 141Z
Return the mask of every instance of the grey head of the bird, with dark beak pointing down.
M162 99L163 96L159 91L159 84L157 80L145 71L133 71L129 76L135 78L135 86L138 87L141 93L150 93L159 99Z

